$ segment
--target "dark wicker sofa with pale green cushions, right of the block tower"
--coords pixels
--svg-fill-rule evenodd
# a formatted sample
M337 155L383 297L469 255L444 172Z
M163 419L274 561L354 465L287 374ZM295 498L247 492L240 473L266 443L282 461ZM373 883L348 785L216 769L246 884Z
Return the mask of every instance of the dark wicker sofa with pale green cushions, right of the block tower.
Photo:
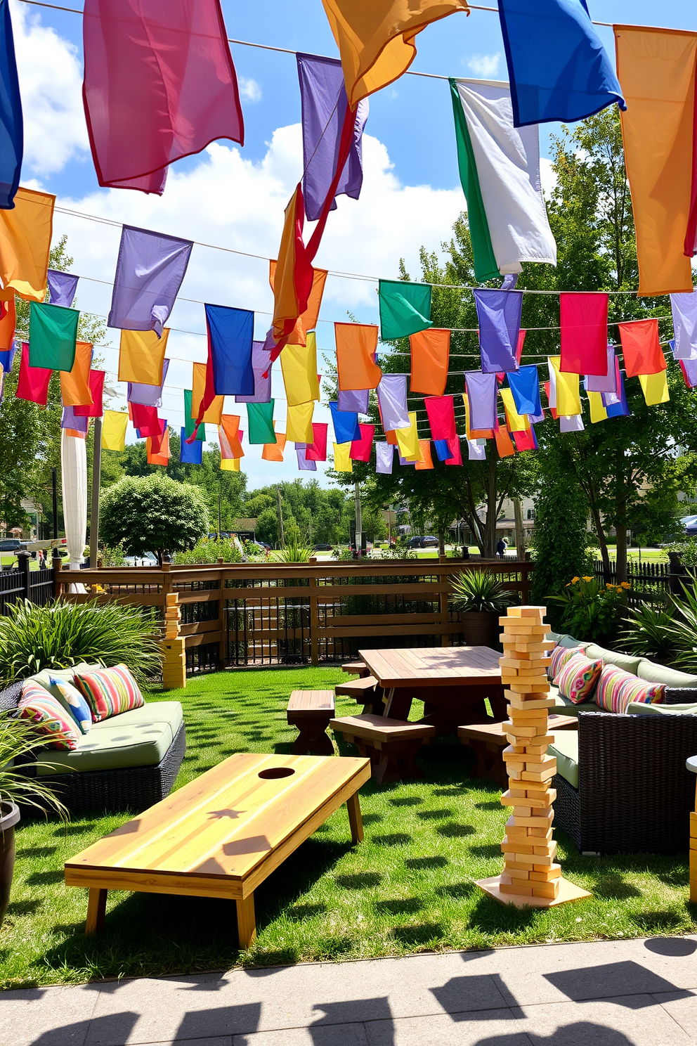
M554 638L578 645L571 636ZM553 687L559 711L563 706L579 720L578 732L557 734L550 749L557 756L555 824L584 852L687 851L695 779L686 759L697 754L697 677L595 645L586 652L665 682L665 704L630 705L620 715L593 704L568 707Z

